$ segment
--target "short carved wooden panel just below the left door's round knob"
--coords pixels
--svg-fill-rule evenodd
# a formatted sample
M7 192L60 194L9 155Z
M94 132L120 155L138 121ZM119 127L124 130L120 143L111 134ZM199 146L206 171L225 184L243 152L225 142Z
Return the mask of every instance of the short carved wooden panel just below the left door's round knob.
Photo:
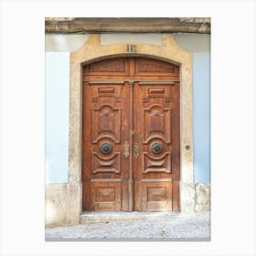
M91 153L91 174L120 173L121 155L116 152L111 156L102 156L96 152Z

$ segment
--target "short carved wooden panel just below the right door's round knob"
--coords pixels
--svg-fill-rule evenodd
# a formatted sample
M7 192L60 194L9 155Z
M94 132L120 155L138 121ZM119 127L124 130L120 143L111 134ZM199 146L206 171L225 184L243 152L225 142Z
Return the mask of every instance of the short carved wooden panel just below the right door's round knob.
M171 153L165 152L164 155L155 157L148 152L143 155L143 173L171 173Z

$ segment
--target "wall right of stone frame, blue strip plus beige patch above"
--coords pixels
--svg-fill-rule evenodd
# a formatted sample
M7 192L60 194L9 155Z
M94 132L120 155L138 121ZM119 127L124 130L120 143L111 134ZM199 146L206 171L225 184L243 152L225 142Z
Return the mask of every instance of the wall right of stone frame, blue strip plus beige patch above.
M194 182L210 182L210 35L175 38L193 55Z

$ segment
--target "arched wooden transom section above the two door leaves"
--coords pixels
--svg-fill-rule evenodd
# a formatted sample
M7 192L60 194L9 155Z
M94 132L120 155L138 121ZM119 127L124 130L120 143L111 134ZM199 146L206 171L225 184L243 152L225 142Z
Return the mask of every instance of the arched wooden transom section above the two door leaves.
M112 76L114 74L114 77ZM100 59L83 66L83 81L88 80L169 80L179 81L179 66L160 59L141 56Z

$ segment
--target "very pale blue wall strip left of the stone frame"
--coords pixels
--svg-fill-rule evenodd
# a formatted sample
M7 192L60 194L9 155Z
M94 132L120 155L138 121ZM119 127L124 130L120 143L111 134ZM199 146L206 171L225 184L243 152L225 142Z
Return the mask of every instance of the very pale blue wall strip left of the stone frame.
M68 182L69 53L46 53L46 183Z

